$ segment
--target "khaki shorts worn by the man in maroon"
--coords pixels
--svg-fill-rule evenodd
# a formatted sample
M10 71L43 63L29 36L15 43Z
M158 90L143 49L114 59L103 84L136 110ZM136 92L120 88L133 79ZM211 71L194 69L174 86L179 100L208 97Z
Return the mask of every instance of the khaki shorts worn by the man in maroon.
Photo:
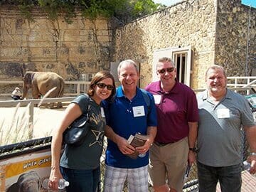
M183 176L188 164L188 137L172 144L149 149L149 182L152 186L166 183L176 191L182 191Z

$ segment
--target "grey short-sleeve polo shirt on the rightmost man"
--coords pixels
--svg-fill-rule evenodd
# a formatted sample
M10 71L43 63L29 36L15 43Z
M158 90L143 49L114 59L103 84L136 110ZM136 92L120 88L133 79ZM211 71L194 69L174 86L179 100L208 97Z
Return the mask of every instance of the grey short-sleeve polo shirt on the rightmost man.
M207 91L197 95L198 161L208 166L232 166L241 162L241 132L243 126L255 125L245 97L227 90L217 105Z

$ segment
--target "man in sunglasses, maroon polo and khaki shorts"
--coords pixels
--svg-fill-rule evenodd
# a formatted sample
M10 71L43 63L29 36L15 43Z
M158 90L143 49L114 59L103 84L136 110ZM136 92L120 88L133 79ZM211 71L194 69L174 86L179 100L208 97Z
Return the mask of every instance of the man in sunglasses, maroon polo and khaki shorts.
M175 64L170 58L159 59L156 73L160 80L145 88L154 96L158 120L156 138L149 149L150 181L156 192L180 192L187 164L196 161L196 95L176 80Z

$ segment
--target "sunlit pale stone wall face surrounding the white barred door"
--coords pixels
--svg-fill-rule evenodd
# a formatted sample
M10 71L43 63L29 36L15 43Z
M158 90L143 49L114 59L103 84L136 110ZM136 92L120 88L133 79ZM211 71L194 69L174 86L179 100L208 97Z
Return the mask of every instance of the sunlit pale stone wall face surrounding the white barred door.
M183 1L118 28L114 59L132 58L141 63L144 87L151 82L154 50L192 46L191 87L198 87L205 70L199 66L214 62L215 9L214 1Z

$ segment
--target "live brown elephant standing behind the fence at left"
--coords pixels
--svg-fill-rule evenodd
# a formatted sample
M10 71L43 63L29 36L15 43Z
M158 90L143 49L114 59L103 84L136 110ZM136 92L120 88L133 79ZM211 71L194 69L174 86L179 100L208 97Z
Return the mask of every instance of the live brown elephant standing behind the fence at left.
M27 71L23 77L23 95L26 98L28 90L32 88L33 99L38 99L41 95L56 87L55 90L50 92L48 97L63 97L64 94L64 80L60 75L53 72L33 72ZM54 103L50 103L50 108L54 107ZM58 108L62 107L61 102L58 102Z

